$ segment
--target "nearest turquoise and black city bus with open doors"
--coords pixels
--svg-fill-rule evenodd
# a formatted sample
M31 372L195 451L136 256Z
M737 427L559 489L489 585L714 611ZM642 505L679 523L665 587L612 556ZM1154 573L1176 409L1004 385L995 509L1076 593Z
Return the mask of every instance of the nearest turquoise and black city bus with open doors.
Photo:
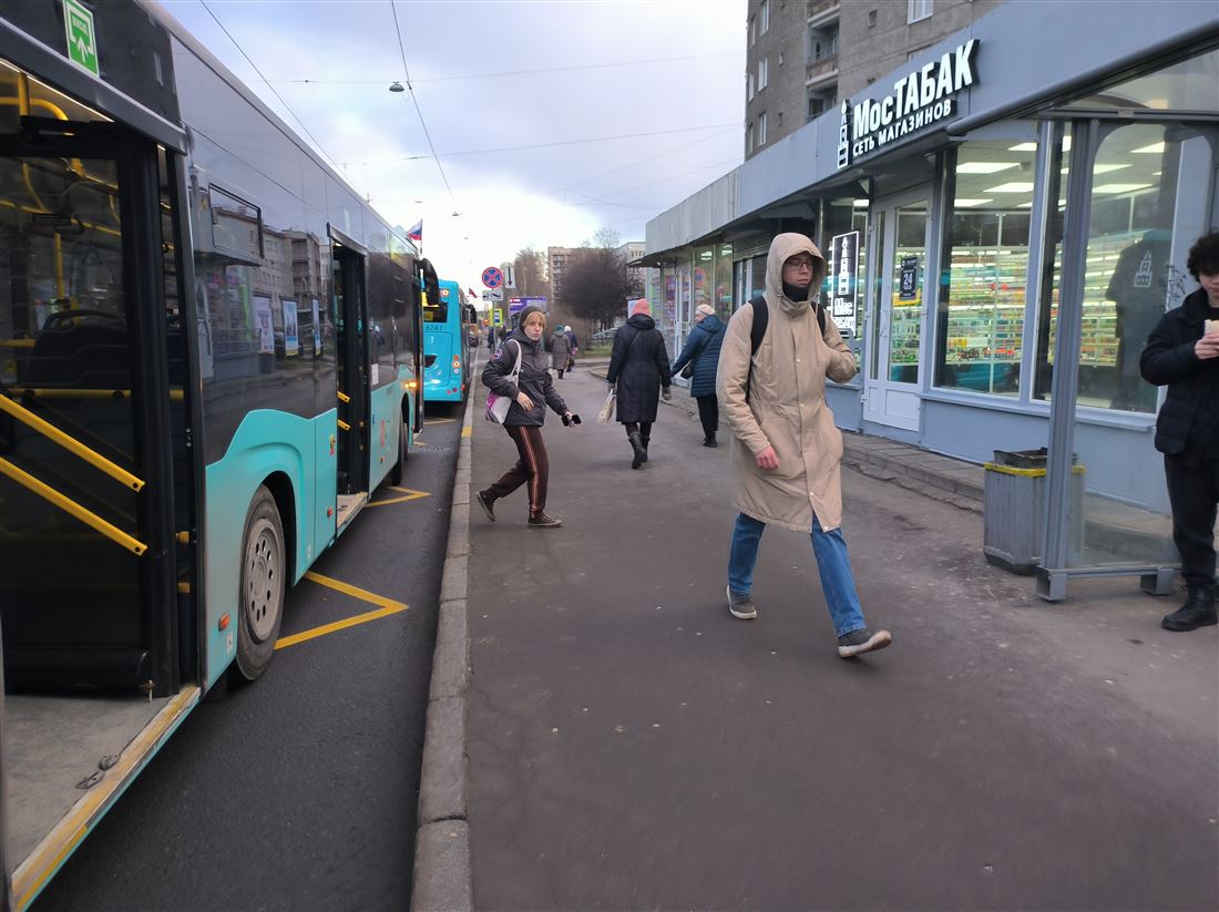
M285 590L401 479L440 294L406 234L160 6L90 6L0 7L16 908L208 690L266 671ZM98 74L69 60L65 16Z

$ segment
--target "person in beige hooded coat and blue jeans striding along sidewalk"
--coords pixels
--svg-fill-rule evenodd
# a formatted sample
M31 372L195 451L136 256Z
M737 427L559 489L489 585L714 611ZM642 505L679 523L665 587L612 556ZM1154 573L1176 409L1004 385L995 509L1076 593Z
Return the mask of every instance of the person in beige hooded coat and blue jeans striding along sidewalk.
M817 246L802 234L780 234L767 257L767 328L756 352L750 339L755 305L728 322L716 387L733 435L740 515L727 594L734 617L757 617L750 593L767 523L811 533L837 652L850 658L884 649L892 636L864 623L840 528L842 434L825 402L825 378L850 380L856 365L834 322L823 318L820 328L816 297L824 278Z

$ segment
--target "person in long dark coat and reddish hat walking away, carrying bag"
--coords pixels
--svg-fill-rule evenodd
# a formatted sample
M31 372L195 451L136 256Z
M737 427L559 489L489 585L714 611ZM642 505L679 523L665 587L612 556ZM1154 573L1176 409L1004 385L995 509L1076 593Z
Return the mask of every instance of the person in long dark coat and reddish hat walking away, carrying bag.
M666 401L673 395L669 391L673 385L669 352L651 317L646 297L630 306L630 318L614 333L606 379L611 388L617 385L614 408L630 441L630 467L639 468L647 462L647 444L652 439L661 391Z

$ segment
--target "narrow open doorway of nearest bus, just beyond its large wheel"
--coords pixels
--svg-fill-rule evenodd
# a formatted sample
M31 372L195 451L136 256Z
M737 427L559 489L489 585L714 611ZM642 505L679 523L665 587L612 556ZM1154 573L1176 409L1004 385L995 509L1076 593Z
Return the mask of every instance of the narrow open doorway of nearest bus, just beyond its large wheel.
M364 256L350 241L334 240L333 251L339 372L338 528L341 530L368 496L368 297Z

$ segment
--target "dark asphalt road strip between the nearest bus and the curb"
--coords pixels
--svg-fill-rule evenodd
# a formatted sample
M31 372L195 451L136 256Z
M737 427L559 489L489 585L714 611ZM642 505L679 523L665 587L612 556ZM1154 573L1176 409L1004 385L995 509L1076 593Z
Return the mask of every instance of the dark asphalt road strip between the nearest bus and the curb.
M254 685L197 707L34 910L410 906L461 434L460 408L428 411L402 484L425 496L377 491L312 568L408 608L280 649ZM304 579L280 636L375 607Z

